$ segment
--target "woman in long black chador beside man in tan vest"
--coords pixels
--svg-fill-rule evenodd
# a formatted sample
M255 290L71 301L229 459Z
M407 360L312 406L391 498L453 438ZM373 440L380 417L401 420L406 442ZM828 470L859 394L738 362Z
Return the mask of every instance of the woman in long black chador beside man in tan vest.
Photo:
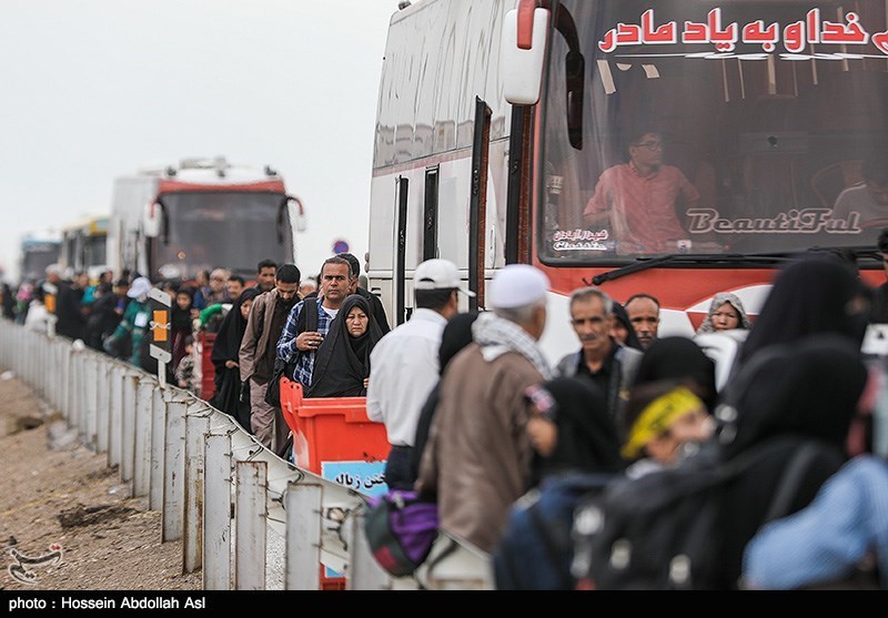
M213 376L215 395L211 403L216 409L233 416L248 433L252 433L250 428L250 393L249 391L243 392L238 357L241 340L246 331L246 318L250 316L253 300L259 294L258 287L248 287L241 292L222 320L213 342L213 351L210 353L210 359L215 368Z

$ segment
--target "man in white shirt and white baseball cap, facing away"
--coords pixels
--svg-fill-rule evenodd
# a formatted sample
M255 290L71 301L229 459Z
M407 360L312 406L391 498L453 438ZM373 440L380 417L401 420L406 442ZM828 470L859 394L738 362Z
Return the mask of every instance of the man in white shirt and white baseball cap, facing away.
M390 488L412 489L411 455L416 423L441 377L438 348L447 320L458 312L460 271L447 260L426 260L413 275L416 307L411 318L385 334L370 354L367 416L385 424L392 448L385 464Z

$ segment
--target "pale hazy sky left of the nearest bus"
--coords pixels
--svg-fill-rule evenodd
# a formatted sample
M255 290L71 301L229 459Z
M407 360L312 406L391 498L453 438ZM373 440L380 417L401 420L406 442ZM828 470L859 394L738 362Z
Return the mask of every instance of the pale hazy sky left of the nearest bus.
M397 0L0 0L0 267L28 232L110 212L115 176L269 164L307 212L297 263L363 261Z

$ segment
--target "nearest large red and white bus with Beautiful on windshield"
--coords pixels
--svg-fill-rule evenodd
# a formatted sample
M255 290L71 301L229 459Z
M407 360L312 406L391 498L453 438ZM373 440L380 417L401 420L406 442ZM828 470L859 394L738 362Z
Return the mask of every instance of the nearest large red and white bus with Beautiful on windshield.
M583 217L640 125L700 194L656 253ZM886 143L886 2L421 0L389 30L371 286L400 323L425 259L454 261L480 306L496 269L538 265L556 358L576 347L567 296L583 285L653 294L660 335L692 335L717 292L755 315L801 251L854 256L879 284L888 221L833 210Z

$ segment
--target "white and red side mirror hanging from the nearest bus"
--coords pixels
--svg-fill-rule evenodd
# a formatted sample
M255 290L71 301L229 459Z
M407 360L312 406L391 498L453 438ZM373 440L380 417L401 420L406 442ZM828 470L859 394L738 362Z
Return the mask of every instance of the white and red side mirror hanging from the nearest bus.
M513 105L534 105L543 83L549 11L536 8L535 0L522 0L506 13L500 58L506 101Z

